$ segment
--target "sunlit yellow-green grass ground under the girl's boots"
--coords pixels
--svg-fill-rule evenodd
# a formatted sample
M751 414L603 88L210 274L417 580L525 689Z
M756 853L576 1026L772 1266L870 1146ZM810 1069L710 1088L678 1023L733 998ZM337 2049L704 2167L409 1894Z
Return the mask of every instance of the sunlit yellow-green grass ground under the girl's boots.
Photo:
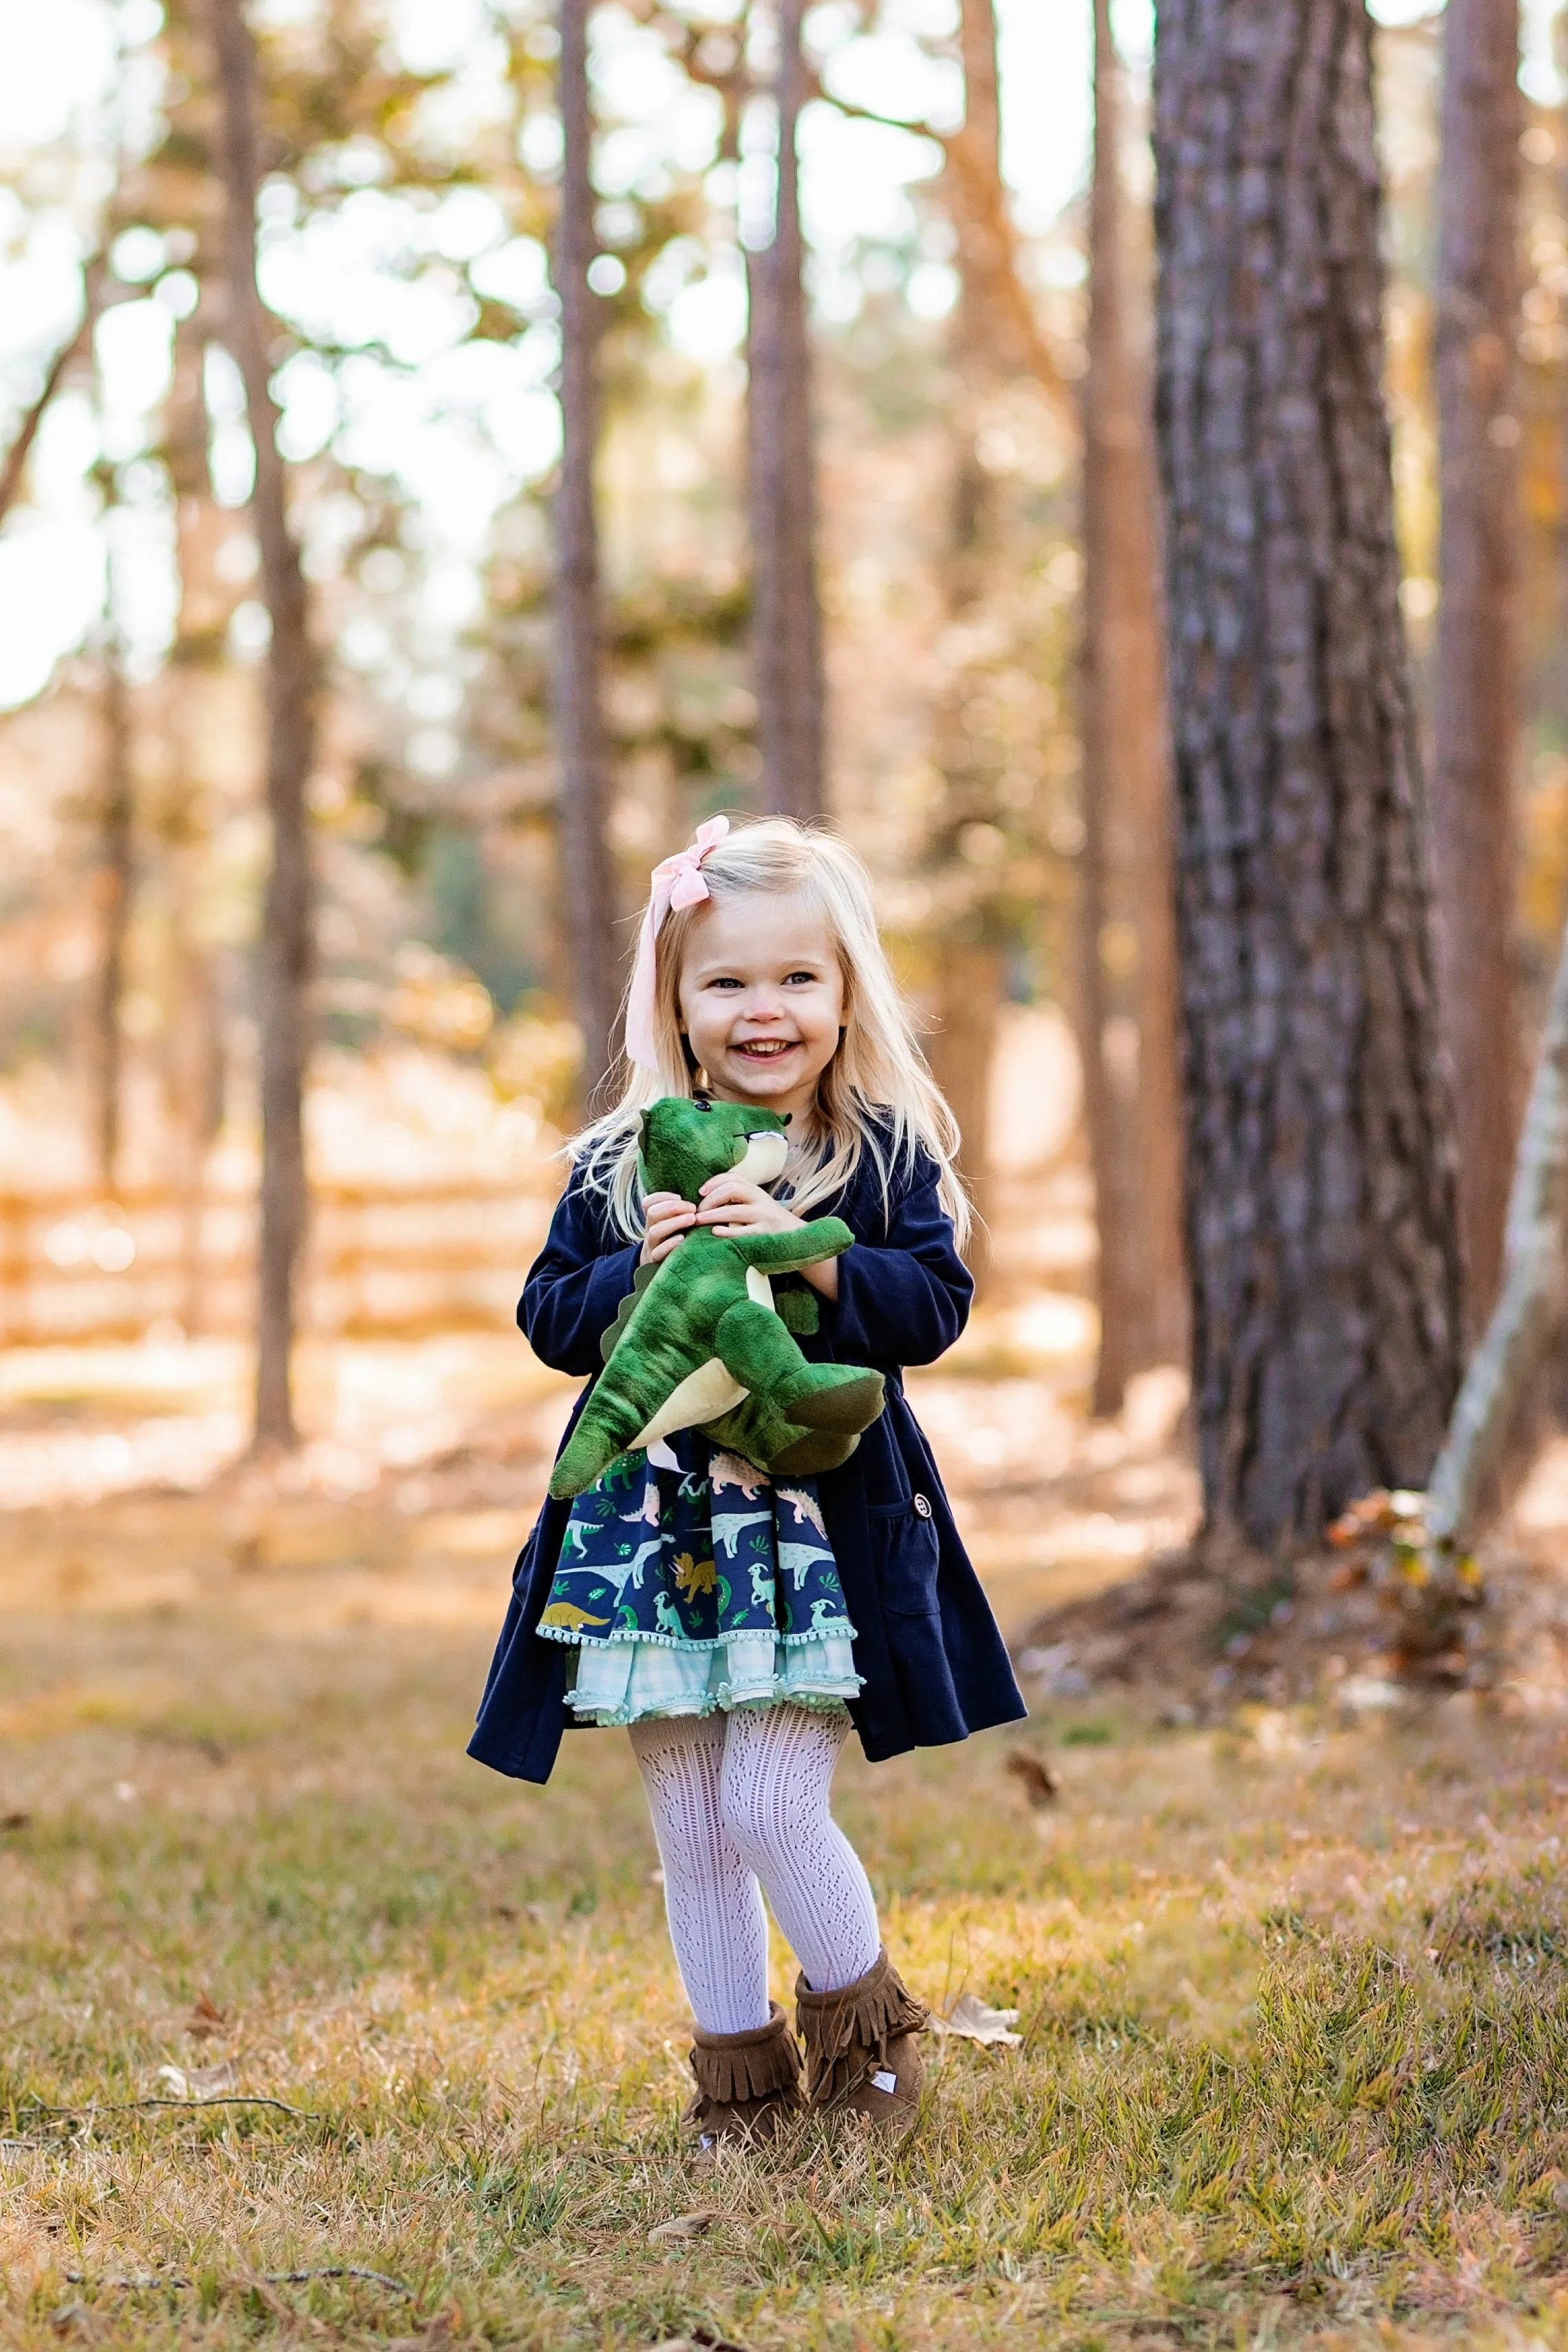
M9 1526L7 2345L1568 2347L1556 1722L1091 1698L846 1759L905 1976L1025 2042L933 2046L898 2154L715 2180L625 1743L463 1759L496 1510L233 1508ZM165 2065L282 2105L129 2105ZM266 2279L343 2265L395 2284Z

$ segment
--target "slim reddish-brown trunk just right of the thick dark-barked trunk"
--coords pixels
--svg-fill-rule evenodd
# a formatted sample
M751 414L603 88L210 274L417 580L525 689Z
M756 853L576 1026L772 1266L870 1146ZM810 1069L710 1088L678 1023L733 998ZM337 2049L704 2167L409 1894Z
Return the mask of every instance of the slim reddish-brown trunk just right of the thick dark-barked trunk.
M1486 1329L1519 1117L1519 0L1448 0L1439 174L1436 976L1460 1145L1465 1310Z

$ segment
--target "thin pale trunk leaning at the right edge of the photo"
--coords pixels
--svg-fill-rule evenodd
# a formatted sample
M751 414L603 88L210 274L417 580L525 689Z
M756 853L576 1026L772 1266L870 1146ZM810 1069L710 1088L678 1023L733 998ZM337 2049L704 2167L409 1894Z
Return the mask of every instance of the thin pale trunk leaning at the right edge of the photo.
M1568 938L1552 985L1535 1084L1507 1207L1505 1275L1469 1359L1427 1491L1427 1534L1465 1550L1554 1329L1561 1329L1568 1230Z

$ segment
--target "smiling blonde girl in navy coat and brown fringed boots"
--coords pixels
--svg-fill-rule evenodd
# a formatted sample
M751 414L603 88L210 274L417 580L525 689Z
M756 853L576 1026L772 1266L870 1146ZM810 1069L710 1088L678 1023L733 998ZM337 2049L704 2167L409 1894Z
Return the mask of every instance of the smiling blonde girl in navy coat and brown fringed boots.
M534 1352L597 1374L637 1268L693 1225L783 1232L832 1214L856 1242L806 1268L816 1334L802 1348L882 1371L886 1406L818 1479L771 1484L684 1430L576 1503L545 1503L468 1752L548 1780L567 1722L630 1726L696 2011L686 2122L705 2150L771 2136L802 2103L799 2046L769 2004L764 1893L802 1966L806 2100L903 2126L926 2011L882 1950L865 1870L827 1809L832 1769L851 1724L877 1762L1025 1705L903 1395L900 1367L931 1364L964 1329L969 1211L858 858L785 818L733 835L705 823L654 873L625 1049L628 1089L576 1138L522 1294ZM644 1200L639 1112L670 1094L788 1112L773 1188L717 1176L696 1202ZM750 1578L715 1576L715 1552L745 1552ZM581 1606L583 1571L599 1595L614 1585L614 1606Z

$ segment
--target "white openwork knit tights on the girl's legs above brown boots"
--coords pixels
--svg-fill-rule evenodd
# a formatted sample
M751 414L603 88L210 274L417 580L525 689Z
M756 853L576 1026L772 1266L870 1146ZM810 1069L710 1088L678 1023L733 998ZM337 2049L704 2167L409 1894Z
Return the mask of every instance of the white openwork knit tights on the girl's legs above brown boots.
M853 1985L877 1959L877 1903L827 1811L846 1729L806 1708L632 1724L670 1943L703 2032L769 2020L762 1889L813 1992Z

